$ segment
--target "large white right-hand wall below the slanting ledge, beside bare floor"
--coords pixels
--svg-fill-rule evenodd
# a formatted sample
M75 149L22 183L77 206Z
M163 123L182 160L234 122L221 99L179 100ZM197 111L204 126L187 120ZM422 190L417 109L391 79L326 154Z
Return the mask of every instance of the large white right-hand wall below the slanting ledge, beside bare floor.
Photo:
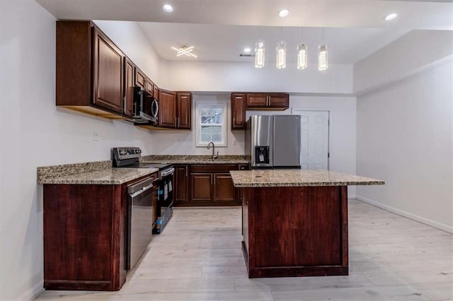
M423 45L420 45L420 47ZM453 232L452 61L357 98L357 198Z

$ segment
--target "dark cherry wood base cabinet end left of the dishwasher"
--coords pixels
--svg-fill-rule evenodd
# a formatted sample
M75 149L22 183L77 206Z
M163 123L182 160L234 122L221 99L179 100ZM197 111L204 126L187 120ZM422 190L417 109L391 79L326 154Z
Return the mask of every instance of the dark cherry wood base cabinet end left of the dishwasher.
M120 290L126 184L44 185L44 288Z

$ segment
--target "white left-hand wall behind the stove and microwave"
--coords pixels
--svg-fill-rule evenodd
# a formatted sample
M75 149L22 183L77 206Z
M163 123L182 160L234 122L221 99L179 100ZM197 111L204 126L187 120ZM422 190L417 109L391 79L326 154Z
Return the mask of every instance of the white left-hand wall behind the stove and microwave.
M113 146L139 146L149 154L151 134L55 107L55 18L33 0L0 3L0 300L27 300L42 290L43 279L36 167L109 160ZM127 33L133 36L134 28ZM144 56L151 53L140 45ZM149 59L131 57L137 64ZM93 131L100 141L91 140Z

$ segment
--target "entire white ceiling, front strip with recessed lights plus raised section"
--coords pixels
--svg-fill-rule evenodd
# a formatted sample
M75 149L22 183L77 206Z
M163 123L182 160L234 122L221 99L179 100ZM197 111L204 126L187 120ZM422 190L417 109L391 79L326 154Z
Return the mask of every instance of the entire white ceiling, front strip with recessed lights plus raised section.
M393 0L36 0L59 19L132 20L147 35L159 57L168 60L253 61L239 57L262 38L266 61L273 61L275 43L287 42L288 62L302 40L309 61L324 30L333 64L353 64L413 29L453 30L452 1ZM163 4L173 13L165 13ZM277 12L289 9L289 16ZM385 21L388 13L398 18ZM195 46L198 58L176 57L171 47Z

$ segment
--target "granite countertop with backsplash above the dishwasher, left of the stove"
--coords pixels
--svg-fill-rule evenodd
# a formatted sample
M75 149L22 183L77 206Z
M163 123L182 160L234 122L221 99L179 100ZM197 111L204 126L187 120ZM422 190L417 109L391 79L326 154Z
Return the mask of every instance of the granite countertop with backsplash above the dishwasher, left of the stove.
M157 168L112 168L112 161L38 167L38 184L122 184Z

